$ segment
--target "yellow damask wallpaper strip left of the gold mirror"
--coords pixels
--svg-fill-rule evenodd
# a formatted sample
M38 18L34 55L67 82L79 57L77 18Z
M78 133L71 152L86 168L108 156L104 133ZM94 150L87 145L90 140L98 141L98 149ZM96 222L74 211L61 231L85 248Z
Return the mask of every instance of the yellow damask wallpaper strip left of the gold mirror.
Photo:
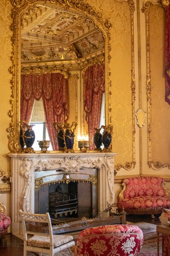
M11 75L8 71L11 66L11 35L9 27L11 19L10 1L0 1L0 170L9 171L9 165L6 158L8 150L8 133L6 129L9 126L10 119L8 111L11 109Z

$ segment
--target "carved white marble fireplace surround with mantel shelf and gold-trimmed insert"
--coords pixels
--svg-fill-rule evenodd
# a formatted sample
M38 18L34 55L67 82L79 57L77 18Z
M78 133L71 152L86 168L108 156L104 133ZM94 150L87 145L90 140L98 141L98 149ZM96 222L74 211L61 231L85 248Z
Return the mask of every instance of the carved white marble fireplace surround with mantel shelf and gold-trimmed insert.
M87 196L87 189L81 187L88 184L87 186L90 186L88 189L91 190L91 198L93 198L89 207L89 209L91 208L90 213L84 215L83 211L87 207L80 207L80 212L75 217L94 218L99 215L108 205L114 203L114 155L115 153L112 152L9 153L12 176L11 232L13 234L22 233L19 209L26 212L35 212L36 202L39 202L35 190L45 189L49 184L58 183L58 185L61 185L61 183L72 184L77 182L83 198L80 202L89 204L86 201L89 197ZM52 192L55 191L50 191L50 193ZM73 193L67 190L66 192L76 194L76 192ZM49 204L49 199L47 201ZM41 212L41 209L39 210ZM68 216L66 217L68 218Z

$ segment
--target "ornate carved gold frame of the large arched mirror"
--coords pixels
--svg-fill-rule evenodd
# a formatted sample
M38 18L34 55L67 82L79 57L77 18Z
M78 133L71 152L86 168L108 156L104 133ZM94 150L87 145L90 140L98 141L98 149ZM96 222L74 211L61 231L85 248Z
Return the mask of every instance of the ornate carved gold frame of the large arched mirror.
M8 148L11 153L19 153L21 151L20 146L20 55L21 55L21 23L23 15L29 15L34 11L34 7L37 4L48 5L58 7L59 9L71 10L77 14L83 13L87 17L91 18L95 26L98 27L105 38L105 125L109 124L109 111L111 111L109 105L109 99L111 92L109 92L109 60L111 56L110 45L110 32L111 23L108 20L103 20L102 14L96 12L92 6L85 3L82 0L11 0L13 6L12 17L13 24L10 29L13 31L11 38L13 45L12 60L13 65L10 67L9 72L12 74L11 79L11 110L8 112L11 117L10 127L8 131Z

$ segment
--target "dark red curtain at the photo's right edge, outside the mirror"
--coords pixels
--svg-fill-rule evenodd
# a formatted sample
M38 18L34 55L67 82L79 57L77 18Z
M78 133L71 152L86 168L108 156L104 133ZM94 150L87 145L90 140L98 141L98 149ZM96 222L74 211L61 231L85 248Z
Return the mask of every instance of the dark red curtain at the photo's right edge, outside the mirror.
M166 8L165 32L165 101L170 104L170 5Z

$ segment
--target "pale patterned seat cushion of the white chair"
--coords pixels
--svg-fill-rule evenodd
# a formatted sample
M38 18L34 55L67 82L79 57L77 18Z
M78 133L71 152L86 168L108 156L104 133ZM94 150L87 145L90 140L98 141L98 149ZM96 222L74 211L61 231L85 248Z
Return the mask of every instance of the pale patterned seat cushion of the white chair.
M54 248L73 240L73 236L53 235ZM50 248L49 236L32 236L28 239L28 245L34 247Z

